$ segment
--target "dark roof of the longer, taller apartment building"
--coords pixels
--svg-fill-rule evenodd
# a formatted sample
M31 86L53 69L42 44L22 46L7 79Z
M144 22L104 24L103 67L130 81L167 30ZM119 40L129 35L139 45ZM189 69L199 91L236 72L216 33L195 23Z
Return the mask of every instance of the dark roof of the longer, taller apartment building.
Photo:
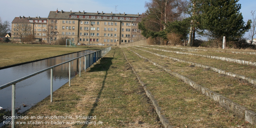
M57 13L58 12L58 13ZM50 11L48 18L49 19L79 19L77 18L70 18L70 15L90 15L90 16L111 16L111 17L139 17L139 14L114 14L114 13L93 13L93 12L72 12L72 11Z

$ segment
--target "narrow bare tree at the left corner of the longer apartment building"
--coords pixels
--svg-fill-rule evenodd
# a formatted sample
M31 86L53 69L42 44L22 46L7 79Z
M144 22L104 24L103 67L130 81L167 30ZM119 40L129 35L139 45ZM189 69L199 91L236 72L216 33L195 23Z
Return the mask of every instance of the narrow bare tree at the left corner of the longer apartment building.
M51 45L51 40L53 40L57 34L58 34L58 31L57 31L57 26L56 26L56 23L54 22L54 20L51 20L51 22L49 21L48 23L48 28L47 28L47 36L48 36L48 39L50 39L50 45Z

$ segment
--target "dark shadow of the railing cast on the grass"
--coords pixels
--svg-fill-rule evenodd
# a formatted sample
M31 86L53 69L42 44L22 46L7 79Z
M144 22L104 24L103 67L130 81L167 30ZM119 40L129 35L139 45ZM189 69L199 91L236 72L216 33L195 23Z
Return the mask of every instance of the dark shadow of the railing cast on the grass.
M112 50L115 51L115 49L112 49ZM87 115L88 117L93 116L92 114L94 113L94 109L98 106L99 98L101 97L102 90L105 87L105 81L106 81L107 76L108 76L108 70L109 70L110 66L112 65L112 60L113 60L114 56L115 56L115 52L113 53L113 57L112 58L110 58L110 57L103 57L103 58L101 58L100 64L94 65L94 67L92 67L91 70L88 71L88 72L106 71L104 79L103 79L103 82L102 82L101 89L98 92L98 96L97 96L94 104L92 105L91 111ZM85 122L87 122L87 121L89 122L90 120L91 119L87 119ZM83 127L86 128L87 126L88 126L88 124L85 124Z

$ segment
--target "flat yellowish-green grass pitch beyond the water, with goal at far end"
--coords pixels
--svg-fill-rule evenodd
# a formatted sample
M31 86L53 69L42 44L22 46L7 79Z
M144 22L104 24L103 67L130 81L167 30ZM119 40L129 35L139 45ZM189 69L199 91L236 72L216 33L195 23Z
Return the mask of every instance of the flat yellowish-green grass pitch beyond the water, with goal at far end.
M102 47L0 43L0 67Z

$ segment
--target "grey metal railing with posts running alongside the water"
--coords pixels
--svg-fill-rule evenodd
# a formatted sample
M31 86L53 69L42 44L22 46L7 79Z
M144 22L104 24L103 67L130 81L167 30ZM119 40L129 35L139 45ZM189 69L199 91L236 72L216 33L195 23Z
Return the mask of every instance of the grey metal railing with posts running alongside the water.
M53 88L52 88L52 86L53 86L53 75L52 75L52 73L53 73L53 68L58 67L58 66L60 66L62 64L69 63L69 73L68 73L69 77L68 77L68 81L69 81L69 86L70 86L71 61L79 59L79 77L80 77L81 76L81 58L82 57L85 57L85 71L86 71L86 56L87 55L89 55L89 67L88 68L90 68L90 66L93 65L96 62L96 60L98 61L100 58L105 56L110 50L111 50L111 47L108 47L108 48L104 48L104 49L101 49L101 50L96 51L96 52L92 52L90 54L82 55L82 56L80 56L78 58L74 58L74 59L71 59L69 61L63 62L61 64L57 64L57 65L54 65L52 67L45 68L44 70L32 73L32 74L30 74L28 76L22 77L20 79L14 80L14 81L12 81L10 83L6 83L6 84L0 86L0 90L6 88L8 86L12 86L12 128L15 127L15 118L13 118L13 117L15 116L15 84L16 83L21 82L22 80L26 80L26 79L28 79L28 78L30 78L32 76L35 76L35 75L37 75L39 73L42 73L42 72L45 72L47 70L51 70L51 102L52 102L52 93L53 93L53 91L52 91L53 90ZM91 55L92 55L92 62L91 62Z

